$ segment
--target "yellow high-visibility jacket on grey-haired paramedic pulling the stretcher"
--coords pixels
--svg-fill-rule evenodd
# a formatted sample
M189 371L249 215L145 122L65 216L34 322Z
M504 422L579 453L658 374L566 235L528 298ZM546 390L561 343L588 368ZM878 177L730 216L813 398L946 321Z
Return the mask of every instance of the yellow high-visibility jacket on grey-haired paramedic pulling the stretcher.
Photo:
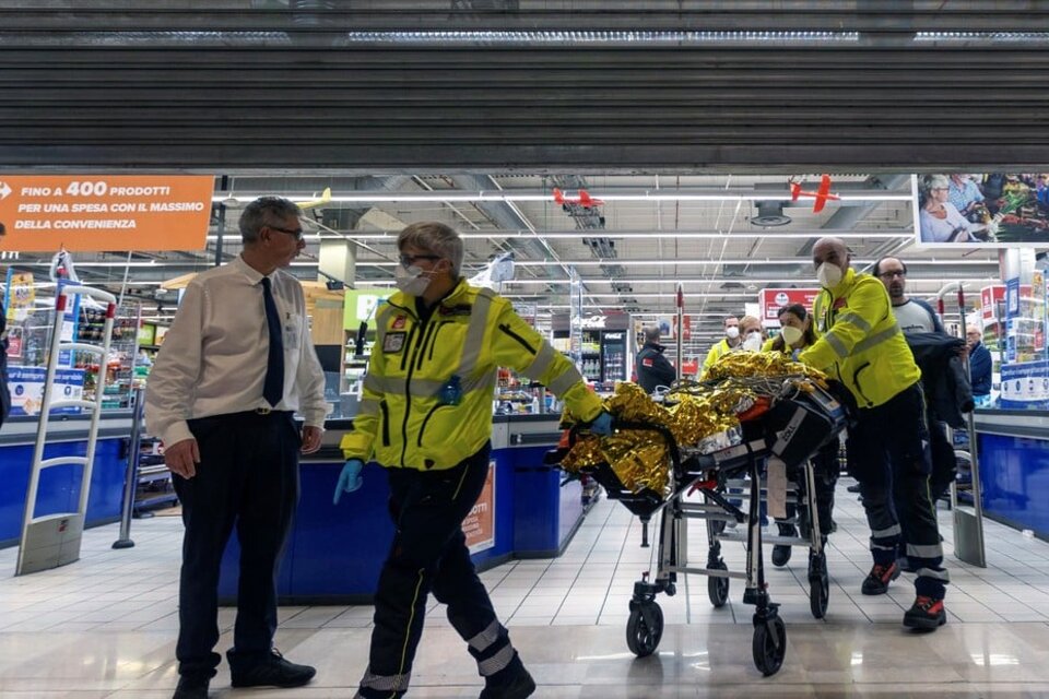
M376 342L346 459L389 467L451 469L492 437L496 369L540 381L573 413L590 420L601 400L567 357L514 312L510 303L460 280L422 323L415 297L393 294L376 313ZM440 393L459 377L458 405Z

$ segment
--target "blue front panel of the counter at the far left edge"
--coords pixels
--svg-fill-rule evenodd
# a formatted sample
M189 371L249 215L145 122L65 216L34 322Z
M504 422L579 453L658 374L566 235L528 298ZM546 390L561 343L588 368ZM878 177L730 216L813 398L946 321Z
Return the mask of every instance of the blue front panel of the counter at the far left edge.
M120 518L120 498L127 461L121 458L122 439L101 439L95 445L95 467L91 475L86 525L94 526ZM59 442L44 449L44 458L83 457L86 441ZM17 544L22 531L25 494L30 485L33 446L0 447L0 546ZM70 512L80 498L81 466L52 466L40 474L34 514Z

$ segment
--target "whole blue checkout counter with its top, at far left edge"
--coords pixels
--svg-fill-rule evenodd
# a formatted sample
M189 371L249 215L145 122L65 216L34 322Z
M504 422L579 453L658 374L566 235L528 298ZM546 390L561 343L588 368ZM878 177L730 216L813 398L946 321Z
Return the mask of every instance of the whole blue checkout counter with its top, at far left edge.
M106 411L102 415L85 526L120 519L131 419L128 410ZM38 424L35 416L12 416L0 431L0 548L19 544ZM52 414L45 458L85 455L90 425L90 415ZM34 514L74 511L80 498L80 476L81 467L71 464L44 471Z

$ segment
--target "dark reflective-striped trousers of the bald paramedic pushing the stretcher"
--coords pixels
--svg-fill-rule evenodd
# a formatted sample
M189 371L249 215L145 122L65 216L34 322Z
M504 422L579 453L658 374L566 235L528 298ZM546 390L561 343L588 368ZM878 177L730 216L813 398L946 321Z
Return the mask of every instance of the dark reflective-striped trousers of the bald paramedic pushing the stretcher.
M874 562L889 565L906 555L918 571L918 594L943 599L950 578L929 495L931 462L921 386L915 383L887 403L858 413L849 434L849 457L871 528Z

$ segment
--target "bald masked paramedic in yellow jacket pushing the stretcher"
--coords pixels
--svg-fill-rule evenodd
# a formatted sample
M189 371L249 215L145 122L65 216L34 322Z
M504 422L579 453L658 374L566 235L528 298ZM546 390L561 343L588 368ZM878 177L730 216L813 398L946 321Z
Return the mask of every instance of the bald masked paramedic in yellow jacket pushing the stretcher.
M874 566L863 594L884 594L899 574L898 555L917 571L917 599L904 626L935 630L946 623L947 571L935 509L929 498L929 434L921 371L888 300L885 286L850 266L838 238L821 238L812 261L823 291L813 305L818 339L799 359L844 383L858 405L849 429L863 509L871 526ZM897 552L900 535L905 550Z

